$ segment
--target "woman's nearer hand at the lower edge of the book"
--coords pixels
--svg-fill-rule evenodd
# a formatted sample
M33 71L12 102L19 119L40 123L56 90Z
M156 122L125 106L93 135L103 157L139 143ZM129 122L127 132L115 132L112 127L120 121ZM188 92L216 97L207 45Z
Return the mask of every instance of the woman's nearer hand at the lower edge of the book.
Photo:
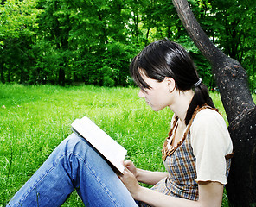
M141 189L141 186L138 184L134 173L125 166L125 173L118 175L118 177L124 183L128 191L130 191L132 198L138 199L138 191Z

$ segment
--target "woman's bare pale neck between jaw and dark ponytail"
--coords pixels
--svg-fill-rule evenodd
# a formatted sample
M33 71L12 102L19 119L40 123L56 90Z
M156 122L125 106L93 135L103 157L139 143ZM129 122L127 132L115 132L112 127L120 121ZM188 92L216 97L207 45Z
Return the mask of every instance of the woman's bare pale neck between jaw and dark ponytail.
M194 91L177 91L175 90L175 102L169 106L170 110L172 110L176 116L182 122L185 122L185 118L187 115L187 110L189 108L189 104L191 103L192 98L194 97Z

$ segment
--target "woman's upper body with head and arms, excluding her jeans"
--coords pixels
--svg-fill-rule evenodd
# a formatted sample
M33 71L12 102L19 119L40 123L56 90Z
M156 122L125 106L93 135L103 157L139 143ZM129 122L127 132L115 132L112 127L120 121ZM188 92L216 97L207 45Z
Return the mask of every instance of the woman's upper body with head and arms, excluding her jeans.
M175 113L162 151L168 173L147 172L125 161L120 179L132 197L151 206L221 206L232 141L189 54L174 42L153 42L134 58L130 71L139 97L152 110L169 107Z

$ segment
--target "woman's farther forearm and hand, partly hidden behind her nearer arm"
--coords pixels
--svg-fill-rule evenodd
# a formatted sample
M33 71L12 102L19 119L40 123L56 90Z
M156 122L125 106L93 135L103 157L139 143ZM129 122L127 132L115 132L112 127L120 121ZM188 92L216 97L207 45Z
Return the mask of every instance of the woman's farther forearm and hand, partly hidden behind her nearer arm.
M167 172L152 172L136 168L131 160L126 160L125 166L134 174L138 182L144 184L156 185L161 179L168 176Z

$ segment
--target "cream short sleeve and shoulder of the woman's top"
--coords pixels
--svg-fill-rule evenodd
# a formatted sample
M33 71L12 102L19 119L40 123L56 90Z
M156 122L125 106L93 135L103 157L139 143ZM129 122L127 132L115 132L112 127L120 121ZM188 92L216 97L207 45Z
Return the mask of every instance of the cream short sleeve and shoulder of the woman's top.
M223 117L215 110L198 112L190 127L191 146L195 155L198 181L227 184L225 155L232 153L233 144Z

